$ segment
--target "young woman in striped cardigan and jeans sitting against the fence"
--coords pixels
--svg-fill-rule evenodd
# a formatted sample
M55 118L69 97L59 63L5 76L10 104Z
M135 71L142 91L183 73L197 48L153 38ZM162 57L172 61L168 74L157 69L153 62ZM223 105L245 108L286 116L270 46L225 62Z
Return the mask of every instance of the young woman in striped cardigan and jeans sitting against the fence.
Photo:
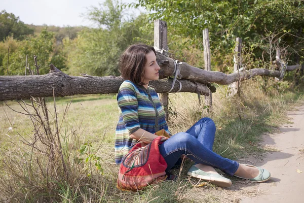
M115 160L120 164L136 142L151 143L156 132L164 129L168 134L165 112L154 88L149 81L159 79L160 66L153 47L136 44L127 48L120 60L121 76L125 80L117 95L120 110L116 128ZM195 161L187 175L211 181L220 187L229 187L230 179L219 175L214 168L225 174L264 182L270 179L270 172L260 167L240 164L223 158L212 151L215 124L210 118L202 118L186 132L179 132L164 141L159 150L167 162L169 171L185 155Z

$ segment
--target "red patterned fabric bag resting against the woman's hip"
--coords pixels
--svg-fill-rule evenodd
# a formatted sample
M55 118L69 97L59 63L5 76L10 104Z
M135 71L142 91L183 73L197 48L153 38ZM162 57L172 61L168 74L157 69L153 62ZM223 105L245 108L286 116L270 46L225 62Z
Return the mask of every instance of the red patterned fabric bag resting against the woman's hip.
M161 139L158 137L143 148L138 143L130 150L120 165L118 189L138 191L147 185L166 180L167 163L159 150Z

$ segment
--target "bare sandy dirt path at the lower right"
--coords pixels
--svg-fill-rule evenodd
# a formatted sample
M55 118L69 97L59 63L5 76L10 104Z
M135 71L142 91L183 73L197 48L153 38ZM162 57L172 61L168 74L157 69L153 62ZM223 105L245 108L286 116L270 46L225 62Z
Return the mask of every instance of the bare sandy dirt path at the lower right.
M283 125L281 133L264 139L265 145L280 151L257 163L271 172L271 181L253 184L258 196L243 198L242 202L304 202L304 106L288 115L294 123Z

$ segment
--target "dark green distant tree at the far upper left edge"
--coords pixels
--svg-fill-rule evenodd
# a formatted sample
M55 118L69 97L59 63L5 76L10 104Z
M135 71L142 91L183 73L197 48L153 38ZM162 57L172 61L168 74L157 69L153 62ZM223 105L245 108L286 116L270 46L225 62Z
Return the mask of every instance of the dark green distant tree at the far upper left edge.
M32 35L34 30L27 27L19 17L5 10L0 12L0 41L13 35L15 39L22 40L27 35Z

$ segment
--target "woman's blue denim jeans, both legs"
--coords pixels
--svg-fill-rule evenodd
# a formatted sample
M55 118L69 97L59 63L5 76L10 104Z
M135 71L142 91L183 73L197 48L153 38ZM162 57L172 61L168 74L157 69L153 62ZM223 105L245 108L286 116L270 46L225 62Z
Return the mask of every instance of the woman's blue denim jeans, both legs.
M160 145L160 153L165 158L170 170L182 154L194 160L219 168L226 174L234 175L239 163L212 151L215 136L215 124L210 118L202 118L186 132L174 134Z

